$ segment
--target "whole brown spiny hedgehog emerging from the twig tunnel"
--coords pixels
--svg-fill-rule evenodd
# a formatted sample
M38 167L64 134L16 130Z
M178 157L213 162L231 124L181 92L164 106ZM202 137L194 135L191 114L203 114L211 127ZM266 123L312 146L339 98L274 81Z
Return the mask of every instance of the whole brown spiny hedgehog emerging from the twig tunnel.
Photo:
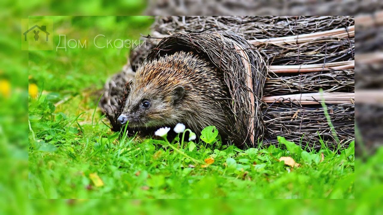
M176 52L144 62L131 83L119 123L129 127L172 126L195 131L225 128L228 90L221 73L192 52Z

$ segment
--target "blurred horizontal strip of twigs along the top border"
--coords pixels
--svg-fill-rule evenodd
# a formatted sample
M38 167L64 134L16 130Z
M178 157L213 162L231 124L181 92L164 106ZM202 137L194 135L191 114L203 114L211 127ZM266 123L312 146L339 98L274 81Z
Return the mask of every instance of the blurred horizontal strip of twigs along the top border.
M347 15L383 8L378 0L151 0L148 15Z

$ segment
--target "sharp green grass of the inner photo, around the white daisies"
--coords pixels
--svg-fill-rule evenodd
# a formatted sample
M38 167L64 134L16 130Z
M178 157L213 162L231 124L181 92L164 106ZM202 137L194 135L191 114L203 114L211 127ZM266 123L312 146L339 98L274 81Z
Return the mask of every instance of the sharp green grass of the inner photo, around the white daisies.
M99 33L137 39L150 21L56 17L54 23L68 38L92 41ZM29 51L29 83L40 93L29 98L29 198L354 198L353 143L341 151L323 144L303 152L280 138L277 147L240 150L213 137L181 148L179 138L170 147L158 138L111 132L97 108L99 90L128 52ZM281 156L300 166L284 165ZM206 165L207 158L214 163ZM91 179L95 174L102 186L97 176Z

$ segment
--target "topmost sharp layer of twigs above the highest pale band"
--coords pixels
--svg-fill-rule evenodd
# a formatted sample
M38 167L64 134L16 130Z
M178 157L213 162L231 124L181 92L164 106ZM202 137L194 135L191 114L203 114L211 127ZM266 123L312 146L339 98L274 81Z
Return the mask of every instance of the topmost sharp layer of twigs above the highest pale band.
M252 41L333 31L353 25L351 16L168 16L158 17L153 28L161 34L169 34L203 31L215 26Z

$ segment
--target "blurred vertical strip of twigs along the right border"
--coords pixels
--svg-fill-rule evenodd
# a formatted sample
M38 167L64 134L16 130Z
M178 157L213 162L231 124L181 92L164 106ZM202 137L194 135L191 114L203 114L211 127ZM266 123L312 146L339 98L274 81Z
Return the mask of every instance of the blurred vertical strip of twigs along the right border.
M383 144L383 11L357 16L358 151L373 152ZM364 143L364 144L362 144Z

